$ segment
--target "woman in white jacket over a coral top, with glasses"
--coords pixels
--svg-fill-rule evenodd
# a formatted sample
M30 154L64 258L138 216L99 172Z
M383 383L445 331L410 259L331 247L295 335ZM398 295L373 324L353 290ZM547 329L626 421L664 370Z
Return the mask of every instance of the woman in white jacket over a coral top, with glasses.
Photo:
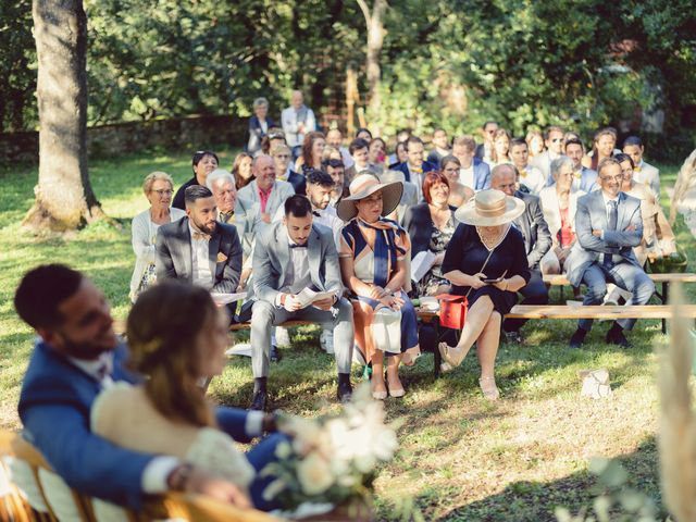
M551 248L542 258L542 274L561 274L571 247L575 244L575 212L577 198L585 195L573 187L573 160L561 156L551 161L554 185L539 192L542 211L551 234ZM580 288L574 288L580 296Z

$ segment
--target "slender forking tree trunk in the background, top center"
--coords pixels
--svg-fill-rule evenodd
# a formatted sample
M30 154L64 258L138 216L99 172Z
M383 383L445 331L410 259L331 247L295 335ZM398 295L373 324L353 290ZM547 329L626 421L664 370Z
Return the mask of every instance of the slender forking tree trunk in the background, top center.
M380 107L382 105L380 97L380 82L382 79L380 55L386 33L384 30L383 16L387 9L387 2L386 0L374 0L372 10L368 8L364 0L358 0L358 4L362 10L368 27L368 52L365 55L368 72L368 114L373 121L378 121L376 119L380 115ZM372 130L378 134L378 128L373 128Z

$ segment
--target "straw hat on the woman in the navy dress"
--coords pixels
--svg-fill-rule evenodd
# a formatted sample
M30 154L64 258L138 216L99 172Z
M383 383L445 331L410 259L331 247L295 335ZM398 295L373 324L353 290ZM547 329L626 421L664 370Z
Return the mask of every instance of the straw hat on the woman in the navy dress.
M468 225L498 226L522 215L524 208L524 201L506 196L502 190L481 190L457 209L455 219Z

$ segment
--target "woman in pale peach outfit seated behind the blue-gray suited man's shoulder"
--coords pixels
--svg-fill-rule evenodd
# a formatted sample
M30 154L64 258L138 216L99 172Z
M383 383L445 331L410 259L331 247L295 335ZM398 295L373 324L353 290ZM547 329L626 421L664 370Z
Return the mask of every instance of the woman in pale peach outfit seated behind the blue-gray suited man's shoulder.
M641 266L648 258L669 256L676 251L674 233L662 209L657 202L655 192L645 184L635 181L633 160L623 152L614 159L621 164L623 182L621 191L641 200L641 216L643 217L643 240L633 249Z

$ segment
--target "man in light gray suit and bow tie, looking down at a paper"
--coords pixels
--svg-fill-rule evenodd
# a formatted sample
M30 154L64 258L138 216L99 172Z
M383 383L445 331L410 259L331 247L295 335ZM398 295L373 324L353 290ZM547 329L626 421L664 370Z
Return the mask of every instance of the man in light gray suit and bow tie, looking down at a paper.
M306 288L333 295L302 307L297 295ZM350 398L352 306L341 297L343 290L332 231L313 223L312 206L306 196L291 196L285 201L283 221L271 224L259 235L253 250L251 409L263 410L266 405L271 330L289 320L320 323L333 330L338 399Z

